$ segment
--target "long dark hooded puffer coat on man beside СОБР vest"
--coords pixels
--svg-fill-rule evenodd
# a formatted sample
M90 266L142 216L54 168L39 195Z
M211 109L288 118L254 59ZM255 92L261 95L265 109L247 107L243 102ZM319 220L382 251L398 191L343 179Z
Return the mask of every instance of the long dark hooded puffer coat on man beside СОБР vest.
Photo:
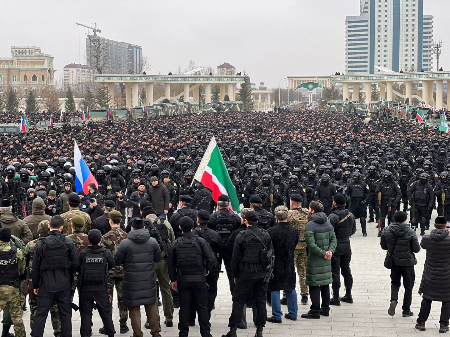
M123 264L123 304L127 307L153 304L156 283L153 263L161 260L158 242L147 229L130 231L114 254L116 266Z

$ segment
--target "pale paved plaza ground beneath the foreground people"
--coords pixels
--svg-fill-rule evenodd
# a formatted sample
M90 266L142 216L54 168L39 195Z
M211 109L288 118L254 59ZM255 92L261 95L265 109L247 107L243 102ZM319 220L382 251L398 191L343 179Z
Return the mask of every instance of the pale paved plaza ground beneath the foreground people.
M359 221L357 223L358 231L351 238L352 247L352 260L351 270L353 274L353 304L342 303L341 306L331 306L330 316L321 317L320 319L302 319L300 315L309 310L311 302L305 305L298 305L298 319L297 321L291 321L283 319L282 324L267 323L264 329L265 336L273 337L294 337L294 336L368 336L368 337L410 337L417 334L423 334L427 337L439 336L439 313L441 304L433 303L432 312L430 318L426 324L427 331L419 332L414 328L417 314L419 313L419 307L421 297L417 293L419 290L420 279L422 277L423 262L425 260L425 251L421 251L417 254L419 263L416 265L416 282L413 291L413 301L411 310L414 312L414 316L410 318L402 318L401 316L401 304L403 298L403 291L401 289L399 297L400 301L397 306L396 315L391 317L387 315L387 308L390 300L391 284L389 278L389 270L383 267L385 251L380 248L377 237L377 229L375 224L368 224L368 236L363 237L360 232ZM427 231L429 232L429 231ZM420 237L419 237L420 241ZM298 281L298 280L297 280ZM449 282L450 283L450 282ZM298 282L297 282L298 284ZM443 284L443 287L450 286L449 284ZM344 293L343 281L341 296ZM297 294L300 294L299 287L297 286ZM300 296L299 296L300 301ZM75 300L77 302L77 300ZM220 337L223 333L228 331L228 318L231 313L231 295L229 293L228 280L225 274L220 274L219 279L219 291L216 299L216 309L211 314L211 334L214 337ZM283 312L287 312L287 307L282 306ZM145 316L144 309L142 312L142 328L144 336L151 336L150 331L144 329ZM267 306L268 315L271 315L271 309ZM130 320L128 320L128 326L130 331L125 334L119 334L119 321L118 321L118 309L117 304L114 306L113 319L115 320L115 326L117 330L116 336L132 335ZM162 336L178 336L178 309L175 309L174 314L174 326L172 328L166 328L163 324L164 316L162 313L162 307L160 307ZM73 324L73 336L79 336L80 328L80 315L78 312L73 312L72 315ZM93 316L93 336L99 335L99 328L102 327L102 322L94 311ZM27 328L27 333L30 333L29 326L29 312L24 313L24 323ZM249 328L246 330L238 329L238 337L253 337L255 334L255 327L252 324L252 310L247 309L247 324ZM250 325L251 324L251 325ZM198 331L198 323L196 326L190 328L189 336L198 337L200 333ZM450 333L441 334L450 335ZM53 336L50 319L47 321L47 328L45 329L45 336Z

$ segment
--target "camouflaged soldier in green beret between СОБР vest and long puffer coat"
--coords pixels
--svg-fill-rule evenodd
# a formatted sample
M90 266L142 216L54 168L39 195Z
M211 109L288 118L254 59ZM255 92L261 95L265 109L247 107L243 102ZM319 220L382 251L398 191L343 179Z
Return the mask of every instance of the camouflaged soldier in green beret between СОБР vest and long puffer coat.
M126 239L126 232L120 229L121 213L119 211L111 211L108 213L109 224L111 225L111 231L103 235L102 245L107 248L112 255L117 252L117 247L123 239ZM115 266L108 271L108 297L109 303L112 306L112 300L114 298L114 286L117 292L117 301L119 302L119 322L120 333L126 333L130 330L126 326L126 320L128 319L128 309L122 302L122 282L123 282L123 266ZM104 328L99 329L99 333L105 333Z

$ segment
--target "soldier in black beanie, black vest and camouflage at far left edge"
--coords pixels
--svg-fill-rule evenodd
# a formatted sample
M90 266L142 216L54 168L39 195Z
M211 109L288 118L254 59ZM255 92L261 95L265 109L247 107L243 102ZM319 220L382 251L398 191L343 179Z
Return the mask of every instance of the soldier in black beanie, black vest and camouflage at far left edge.
M9 309L16 337L26 337L20 303L20 275L25 272L25 258L21 249L10 245L11 230L0 229L0 311ZM9 329L9 326L8 326ZM9 332L6 332L9 334ZM2 333L3 334L3 333Z

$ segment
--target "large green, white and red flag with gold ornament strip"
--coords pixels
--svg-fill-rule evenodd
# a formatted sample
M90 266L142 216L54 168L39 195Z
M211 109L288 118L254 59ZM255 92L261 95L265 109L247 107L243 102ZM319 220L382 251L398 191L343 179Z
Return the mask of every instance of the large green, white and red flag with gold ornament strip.
M205 150L194 178L212 191L212 199L214 201L217 202L217 198L221 194L228 195L230 200L229 210L235 213L240 212L238 195L231 182L225 161L214 136Z

